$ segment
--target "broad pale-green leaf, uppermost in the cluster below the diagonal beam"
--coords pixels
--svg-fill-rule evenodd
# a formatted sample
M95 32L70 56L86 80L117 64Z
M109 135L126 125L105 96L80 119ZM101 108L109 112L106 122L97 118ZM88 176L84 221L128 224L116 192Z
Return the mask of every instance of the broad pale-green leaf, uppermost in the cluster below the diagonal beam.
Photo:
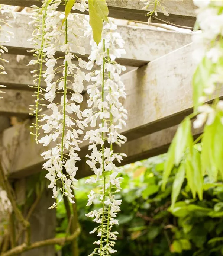
M177 129L176 148L175 148L175 165L178 165L185 153L187 147L192 147L192 135L191 135L191 121L190 118L185 118Z

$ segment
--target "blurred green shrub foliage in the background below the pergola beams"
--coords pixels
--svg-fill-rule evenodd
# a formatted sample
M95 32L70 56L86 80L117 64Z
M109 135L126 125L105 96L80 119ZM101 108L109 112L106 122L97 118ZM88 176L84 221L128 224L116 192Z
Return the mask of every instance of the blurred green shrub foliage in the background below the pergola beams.
M119 231L116 256L218 256L223 255L223 184L210 183L204 177L203 200L193 199L186 179L179 177L182 188L175 205L171 207L171 191L175 168L168 177L165 191L161 190L165 156L153 157L123 167L121 212L118 215ZM78 238L80 256L89 255L96 234L89 234L95 227L91 218L85 217L91 209L86 207L87 195L92 185L79 181L76 191L78 218L82 228ZM176 179L175 179L176 180ZM177 191L175 182L173 195ZM57 236L64 236L68 220L65 207L57 210ZM56 247L63 256L71 256L70 247Z

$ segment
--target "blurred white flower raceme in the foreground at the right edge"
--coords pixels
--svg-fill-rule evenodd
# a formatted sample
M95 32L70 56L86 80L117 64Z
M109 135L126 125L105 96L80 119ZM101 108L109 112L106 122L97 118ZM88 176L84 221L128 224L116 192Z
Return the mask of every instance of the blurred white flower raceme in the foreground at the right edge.
M193 77L194 105L198 112L194 128L200 128L213 124L216 116L223 116L223 101L204 103L223 84L223 1L194 0L194 4L198 6L197 24L202 31L193 35L197 46L193 56L199 63ZM223 124L223 117L221 120Z

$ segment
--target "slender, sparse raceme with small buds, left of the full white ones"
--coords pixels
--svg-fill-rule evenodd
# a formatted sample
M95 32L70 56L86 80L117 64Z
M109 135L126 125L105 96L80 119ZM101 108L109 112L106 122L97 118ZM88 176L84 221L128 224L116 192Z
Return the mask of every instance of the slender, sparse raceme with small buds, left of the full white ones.
M52 3L53 2L53 3ZM36 122L32 123L30 128L34 128L35 133L30 132L35 135L35 141L38 143L38 135L39 135L39 119L41 118L40 112L42 111L43 104L43 92L45 89L41 86L41 80L43 80L43 76L45 74L44 64L46 63L46 52L44 51L46 48L51 47L52 42L55 40L55 36L46 31L46 19L51 18L55 19L55 16L58 15L56 9L59 5L60 1L52 1L52 0L43 0L42 6L32 6L34 9L30 18L32 21L29 22L29 25L33 25L34 31L32 33L32 38L28 41L33 45L32 50L28 52L33 52L33 56L35 59L31 60L29 65L36 65L38 68L33 70L31 73L34 73L35 79L33 80L33 85L29 87L35 88L35 94L33 95L35 99L35 105L30 105L30 110L33 113L30 115L35 116Z

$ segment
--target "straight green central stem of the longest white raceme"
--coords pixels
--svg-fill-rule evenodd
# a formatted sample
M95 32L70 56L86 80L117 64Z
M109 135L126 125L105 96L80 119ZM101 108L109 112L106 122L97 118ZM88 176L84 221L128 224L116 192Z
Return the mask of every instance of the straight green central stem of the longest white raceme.
M105 40L103 39L103 50L105 52ZM101 93L101 99L102 102L104 101L104 71L105 71L105 57L103 57L103 71L102 71L102 93ZM102 112L104 111L104 108L102 107ZM104 118L102 119L102 127L104 127ZM101 242L100 242L100 256L102 255L102 238L103 238L103 229L104 229L104 208L105 208L105 193L106 193L106 177L105 177L105 171L104 171L104 132L101 133L101 137L103 140L102 145L102 175L104 179L104 188L103 188L103 209L102 209L102 222L101 222Z

